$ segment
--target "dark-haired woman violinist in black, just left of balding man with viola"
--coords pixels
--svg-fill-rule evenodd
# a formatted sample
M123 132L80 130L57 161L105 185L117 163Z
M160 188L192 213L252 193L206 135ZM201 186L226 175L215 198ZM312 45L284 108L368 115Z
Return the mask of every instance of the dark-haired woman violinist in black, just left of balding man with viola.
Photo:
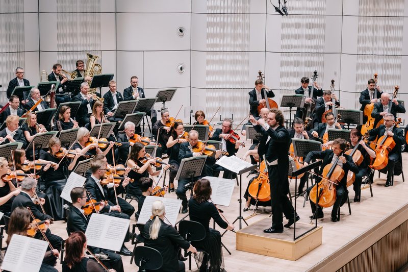
M184 131L183 123L174 122L174 126L171 130L171 136L167 141L167 149L170 150L169 164L174 168L170 170L170 191L174 192L174 178L179 170L181 160L179 159L180 144L187 142L187 139L183 135L187 133Z

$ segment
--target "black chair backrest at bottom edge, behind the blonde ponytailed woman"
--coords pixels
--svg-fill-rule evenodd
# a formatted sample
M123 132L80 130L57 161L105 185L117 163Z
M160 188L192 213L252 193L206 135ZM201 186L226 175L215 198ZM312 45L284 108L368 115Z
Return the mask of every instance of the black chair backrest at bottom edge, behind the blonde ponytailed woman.
M139 266L139 272L144 269L158 270L163 265L163 257L158 250L140 245L135 250L135 263Z

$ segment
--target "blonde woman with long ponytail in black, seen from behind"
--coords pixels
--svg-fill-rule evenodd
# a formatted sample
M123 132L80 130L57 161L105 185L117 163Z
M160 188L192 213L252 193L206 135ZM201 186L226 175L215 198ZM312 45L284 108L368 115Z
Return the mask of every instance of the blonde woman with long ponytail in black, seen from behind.
M160 200L151 205L152 219L144 225L143 237L146 239L145 245L158 250L162 254L162 272L185 271L184 262L177 259L179 248L191 253L197 250L186 241L177 230L165 223L166 209Z

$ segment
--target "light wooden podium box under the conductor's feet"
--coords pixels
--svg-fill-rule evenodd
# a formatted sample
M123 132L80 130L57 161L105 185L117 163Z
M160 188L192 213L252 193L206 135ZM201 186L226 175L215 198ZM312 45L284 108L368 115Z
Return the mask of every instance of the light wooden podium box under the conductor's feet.
M270 228L270 226L271 218L267 217L237 231L236 249L295 261L322 243L323 228L320 226L295 241L293 241L293 228L285 228L283 233L264 233L263 230ZM311 228L313 225L296 222L297 234Z

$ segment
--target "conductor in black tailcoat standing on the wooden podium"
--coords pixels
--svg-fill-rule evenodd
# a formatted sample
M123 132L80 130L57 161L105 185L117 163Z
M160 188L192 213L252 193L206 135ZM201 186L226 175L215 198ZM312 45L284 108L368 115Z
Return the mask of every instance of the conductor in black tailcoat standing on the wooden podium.
M271 109L267 123L264 119L256 120L249 116L249 121L254 129L267 135L265 146L265 159L268 166L269 185L271 191L272 226L264 230L265 233L281 233L284 231L283 214L289 220L286 228L292 226L300 217L296 214L287 194L289 193L289 132L284 127L284 115L277 109ZM261 140L262 142L262 140ZM261 148L261 146L259 147Z

